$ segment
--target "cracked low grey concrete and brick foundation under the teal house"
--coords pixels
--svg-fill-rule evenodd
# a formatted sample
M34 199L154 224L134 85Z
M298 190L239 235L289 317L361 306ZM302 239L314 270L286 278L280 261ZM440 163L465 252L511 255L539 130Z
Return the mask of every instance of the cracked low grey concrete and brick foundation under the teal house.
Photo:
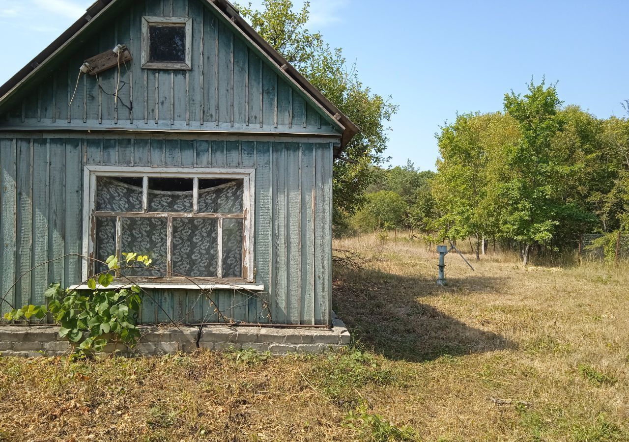
M59 338L58 326L0 325L2 356L57 356L70 353L70 344ZM207 350L252 349L273 355L323 353L350 343L350 334L338 318L333 328L272 328L256 326L140 326L142 338L133 348L109 344L106 353L166 355L198 348Z

